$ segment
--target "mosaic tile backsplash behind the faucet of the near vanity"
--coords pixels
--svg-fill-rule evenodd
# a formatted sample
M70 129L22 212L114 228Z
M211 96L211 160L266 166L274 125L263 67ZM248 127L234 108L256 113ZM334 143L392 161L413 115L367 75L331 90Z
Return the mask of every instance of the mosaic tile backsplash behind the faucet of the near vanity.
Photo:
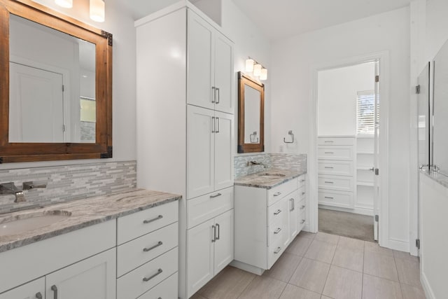
M0 170L0 183L25 181L46 183L46 188L25 190L26 202L15 203L14 195L0 196L0 213L55 202L105 195L137 186L137 162L107 162L25 169Z

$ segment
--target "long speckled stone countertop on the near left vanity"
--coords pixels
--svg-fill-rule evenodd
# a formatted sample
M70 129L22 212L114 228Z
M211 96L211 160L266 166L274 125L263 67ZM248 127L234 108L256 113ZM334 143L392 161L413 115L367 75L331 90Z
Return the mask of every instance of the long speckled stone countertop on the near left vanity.
M69 217L18 235L0 236L0 252L180 199L181 195L172 193L130 189L129 191L110 195L71 200L70 202L52 204L42 208L2 214L0 215L0 225L5 225L11 220L31 218L39 215L69 215Z

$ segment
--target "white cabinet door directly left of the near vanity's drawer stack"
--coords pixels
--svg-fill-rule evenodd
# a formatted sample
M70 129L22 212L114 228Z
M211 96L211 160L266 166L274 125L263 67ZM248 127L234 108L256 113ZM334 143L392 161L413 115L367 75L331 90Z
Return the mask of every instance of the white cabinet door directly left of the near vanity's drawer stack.
M116 298L116 249L46 276L46 299Z

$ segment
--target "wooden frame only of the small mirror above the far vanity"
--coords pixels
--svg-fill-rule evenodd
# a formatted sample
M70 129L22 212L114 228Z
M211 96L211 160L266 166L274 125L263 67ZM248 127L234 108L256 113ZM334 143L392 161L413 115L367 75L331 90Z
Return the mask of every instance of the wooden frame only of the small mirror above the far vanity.
M260 143L244 143L244 90L248 85L260 92ZM238 153L258 153L265 151L265 85L238 72Z

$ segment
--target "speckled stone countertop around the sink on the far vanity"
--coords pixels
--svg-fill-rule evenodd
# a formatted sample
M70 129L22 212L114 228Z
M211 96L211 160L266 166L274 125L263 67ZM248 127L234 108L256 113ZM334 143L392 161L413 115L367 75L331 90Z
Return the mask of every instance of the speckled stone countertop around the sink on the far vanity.
M271 189L276 186L286 183L292 179L297 178L305 174L306 171L293 171L285 169L265 169L263 172L258 172L256 174L249 174L248 176L241 176L235 179L235 185L237 186L247 186L255 188L265 188ZM285 176L263 176L262 174L284 174Z

